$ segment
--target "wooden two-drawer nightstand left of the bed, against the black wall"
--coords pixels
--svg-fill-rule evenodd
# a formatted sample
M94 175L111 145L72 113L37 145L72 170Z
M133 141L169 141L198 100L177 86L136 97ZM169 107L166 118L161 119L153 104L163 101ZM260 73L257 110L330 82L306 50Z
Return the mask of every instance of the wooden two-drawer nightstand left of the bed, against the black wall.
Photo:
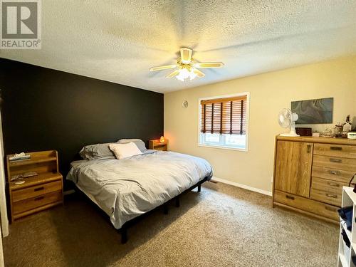
M23 216L63 204L63 179L58 172L58 153L56 150L26 153L31 159L9 161L6 156L11 222ZM26 172L38 175L23 178L23 184L11 182L11 177Z

